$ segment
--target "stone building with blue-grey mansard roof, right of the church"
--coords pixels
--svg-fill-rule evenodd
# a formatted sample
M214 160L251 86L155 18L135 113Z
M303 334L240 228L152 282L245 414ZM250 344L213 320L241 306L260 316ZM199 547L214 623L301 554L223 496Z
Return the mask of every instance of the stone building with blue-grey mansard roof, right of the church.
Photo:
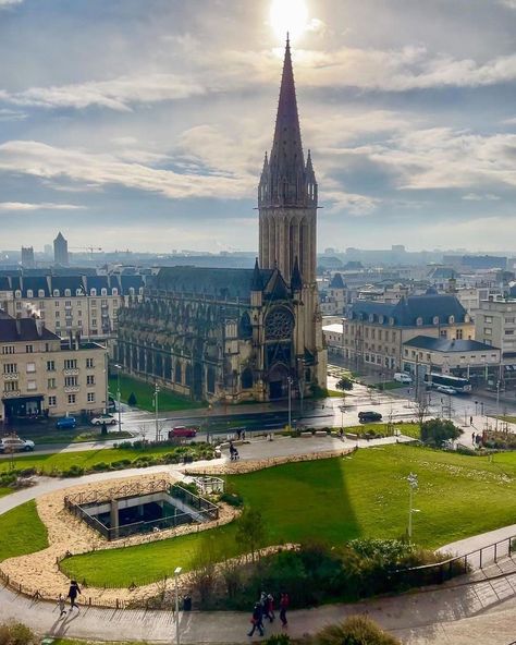
M434 290L395 304L356 301L343 320L341 353L357 366L401 369L403 344L416 336L471 340L475 326L454 295Z

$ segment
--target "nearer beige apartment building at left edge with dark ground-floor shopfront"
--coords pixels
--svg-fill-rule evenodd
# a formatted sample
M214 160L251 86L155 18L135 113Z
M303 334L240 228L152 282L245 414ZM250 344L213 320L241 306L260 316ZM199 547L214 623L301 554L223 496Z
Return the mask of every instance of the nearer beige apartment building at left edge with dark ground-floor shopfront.
M106 409L107 349L0 313L0 423Z

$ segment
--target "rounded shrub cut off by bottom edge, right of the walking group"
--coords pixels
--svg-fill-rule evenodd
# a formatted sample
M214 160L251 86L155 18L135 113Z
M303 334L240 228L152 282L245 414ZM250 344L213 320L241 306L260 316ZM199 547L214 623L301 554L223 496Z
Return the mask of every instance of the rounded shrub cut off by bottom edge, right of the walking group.
M342 624L328 625L315 636L316 645L401 645L365 616L351 616Z

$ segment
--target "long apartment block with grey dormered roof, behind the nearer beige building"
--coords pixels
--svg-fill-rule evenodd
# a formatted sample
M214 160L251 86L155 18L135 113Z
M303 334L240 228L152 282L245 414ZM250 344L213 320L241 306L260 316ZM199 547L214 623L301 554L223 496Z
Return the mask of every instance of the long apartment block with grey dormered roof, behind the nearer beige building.
M143 290L142 276L10 276L0 279L0 308L13 318L36 316L60 338L110 340L120 307Z

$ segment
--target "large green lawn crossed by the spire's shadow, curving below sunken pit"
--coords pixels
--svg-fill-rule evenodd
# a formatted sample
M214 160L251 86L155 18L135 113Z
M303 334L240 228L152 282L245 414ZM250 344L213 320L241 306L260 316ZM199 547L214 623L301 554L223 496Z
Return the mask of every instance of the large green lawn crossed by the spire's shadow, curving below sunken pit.
M357 537L395 538L406 531L407 475L419 476L414 539L437 548L514 523L516 453L481 457L403 445L359 450L342 459L294 463L229 477L249 507L260 509L267 544L311 537L342 544ZM471 502L474 500L474 503ZM235 524L205 534L64 560L67 575L88 584L128 586L188 570L206 539L225 555L238 551Z

